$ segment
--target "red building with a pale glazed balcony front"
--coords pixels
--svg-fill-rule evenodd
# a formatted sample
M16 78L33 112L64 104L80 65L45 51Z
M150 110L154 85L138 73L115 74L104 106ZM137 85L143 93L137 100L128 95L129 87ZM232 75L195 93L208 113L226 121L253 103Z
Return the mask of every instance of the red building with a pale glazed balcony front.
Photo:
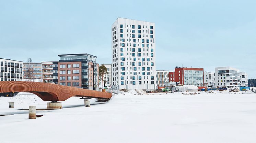
M181 68L174 69L174 82L182 85L203 86L203 68Z

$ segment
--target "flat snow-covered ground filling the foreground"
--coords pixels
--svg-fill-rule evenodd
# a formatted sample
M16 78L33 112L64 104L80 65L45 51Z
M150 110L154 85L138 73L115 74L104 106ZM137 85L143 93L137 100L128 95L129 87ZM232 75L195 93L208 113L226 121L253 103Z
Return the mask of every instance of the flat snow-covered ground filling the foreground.
M130 90L104 104L72 97L63 109L37 111L37 96L0 97L0 143L255 143L256 94L250 91L151 93ZM14 108L8 108L14 102Z

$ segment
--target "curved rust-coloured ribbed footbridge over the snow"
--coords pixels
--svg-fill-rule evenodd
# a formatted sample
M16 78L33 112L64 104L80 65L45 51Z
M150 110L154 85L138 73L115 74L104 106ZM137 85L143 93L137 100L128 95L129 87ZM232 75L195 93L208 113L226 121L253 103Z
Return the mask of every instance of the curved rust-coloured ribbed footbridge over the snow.
M101 92L77 87L69 87L52 83L2 81L0 93L7 92L30 92L44 101L65 101L70 97L86 97L97 99L110 99L111 93Z

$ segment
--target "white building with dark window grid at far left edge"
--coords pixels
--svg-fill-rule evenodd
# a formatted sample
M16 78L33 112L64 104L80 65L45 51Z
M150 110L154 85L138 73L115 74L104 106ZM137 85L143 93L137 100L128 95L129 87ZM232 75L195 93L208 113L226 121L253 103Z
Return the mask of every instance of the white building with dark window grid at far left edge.
M0 58L0 81L22 81L23 62Z

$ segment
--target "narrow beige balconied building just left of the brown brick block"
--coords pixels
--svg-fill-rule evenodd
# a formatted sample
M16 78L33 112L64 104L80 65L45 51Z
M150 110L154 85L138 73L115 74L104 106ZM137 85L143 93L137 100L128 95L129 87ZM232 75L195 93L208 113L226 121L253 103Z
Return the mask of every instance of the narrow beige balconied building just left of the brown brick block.
M42 82L53 83L53 62L42 62Z

